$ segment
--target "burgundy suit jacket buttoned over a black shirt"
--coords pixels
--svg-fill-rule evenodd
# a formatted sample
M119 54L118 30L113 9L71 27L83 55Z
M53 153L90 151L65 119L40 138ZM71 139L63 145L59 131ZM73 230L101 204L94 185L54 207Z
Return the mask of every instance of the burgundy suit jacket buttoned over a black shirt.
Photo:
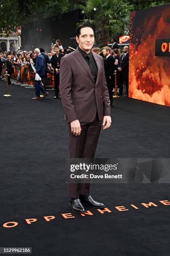
M67 123L77 119L80 123L90 123L96 110L100 121L104 115L111 116L103 58L94 52L92 55L98 70L96 83L79 49L61 59L60 96Z

